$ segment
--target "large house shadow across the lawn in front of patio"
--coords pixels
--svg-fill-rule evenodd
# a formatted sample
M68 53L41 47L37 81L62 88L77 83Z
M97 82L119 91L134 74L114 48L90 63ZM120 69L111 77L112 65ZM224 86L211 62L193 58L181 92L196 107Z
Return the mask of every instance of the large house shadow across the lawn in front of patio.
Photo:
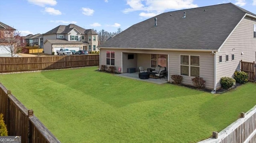
M49 71L42 74L58 84L78 90L113 107L123 107L137 102L146 102L177 96L193 96L202 91L172 84L153 84L98 72L95 68ZM68 92L68 90L66 90Z

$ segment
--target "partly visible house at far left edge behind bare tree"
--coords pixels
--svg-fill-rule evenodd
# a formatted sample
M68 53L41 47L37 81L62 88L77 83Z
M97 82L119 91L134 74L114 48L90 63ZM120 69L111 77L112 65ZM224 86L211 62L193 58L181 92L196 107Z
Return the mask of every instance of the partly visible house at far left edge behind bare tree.
M10 27L10 26L0 22L0 56L1 55L2 56L6 56L6 54L7 55L10 54L10 52L6 51L6 48L4 48L4 46L7 45L7 42L6 42L5 38L4 38L4 35L10 34L10 29L14 30L14 31L16 30L16 29L14 29L14 28L12 28L12 27Z

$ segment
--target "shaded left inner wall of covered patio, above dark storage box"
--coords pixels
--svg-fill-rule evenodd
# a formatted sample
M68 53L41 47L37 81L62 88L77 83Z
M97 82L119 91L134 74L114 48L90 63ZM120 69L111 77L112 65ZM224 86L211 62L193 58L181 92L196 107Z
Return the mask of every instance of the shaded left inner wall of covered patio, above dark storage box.
M128 59L128 54L133 54L134 59ZM123 72L127 72L127 68L137 68L137 54L123 53Z

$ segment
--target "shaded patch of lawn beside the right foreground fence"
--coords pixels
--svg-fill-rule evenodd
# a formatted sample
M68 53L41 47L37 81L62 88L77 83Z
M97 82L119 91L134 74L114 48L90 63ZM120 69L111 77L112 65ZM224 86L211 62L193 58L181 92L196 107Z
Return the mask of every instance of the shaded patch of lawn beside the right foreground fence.
M216 94L201 106L200 118L216 131L222 131L240 118L241 112L247 112L256 105L255 86L249 82L224 94Z

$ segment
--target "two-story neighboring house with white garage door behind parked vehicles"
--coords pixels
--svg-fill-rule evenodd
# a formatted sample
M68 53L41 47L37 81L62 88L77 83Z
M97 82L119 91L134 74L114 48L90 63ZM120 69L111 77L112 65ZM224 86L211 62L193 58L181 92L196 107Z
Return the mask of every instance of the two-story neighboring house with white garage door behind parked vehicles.
M98 51L98 34L92 29L84 29L75 24L59 25L43 34L44 53L56 54L56 50Z

